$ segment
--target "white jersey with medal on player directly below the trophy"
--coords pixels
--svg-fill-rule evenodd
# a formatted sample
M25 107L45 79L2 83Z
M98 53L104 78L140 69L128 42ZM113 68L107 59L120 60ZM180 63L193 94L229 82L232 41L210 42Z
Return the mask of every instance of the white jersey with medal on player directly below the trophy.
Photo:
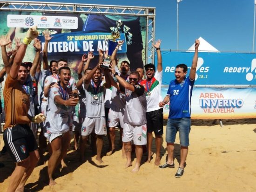
M86 117L105 117L104 107L104 86L94 87L93 80L90 83L84 83L86 95ZM81 109L82 110L82 109Z

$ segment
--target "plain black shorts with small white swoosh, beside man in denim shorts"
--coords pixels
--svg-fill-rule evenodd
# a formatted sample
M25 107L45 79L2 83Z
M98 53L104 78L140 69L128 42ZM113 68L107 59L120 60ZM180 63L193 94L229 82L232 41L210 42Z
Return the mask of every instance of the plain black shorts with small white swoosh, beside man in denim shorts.
M147 112L148 132L155 132L155 135L163 134L163 109Z

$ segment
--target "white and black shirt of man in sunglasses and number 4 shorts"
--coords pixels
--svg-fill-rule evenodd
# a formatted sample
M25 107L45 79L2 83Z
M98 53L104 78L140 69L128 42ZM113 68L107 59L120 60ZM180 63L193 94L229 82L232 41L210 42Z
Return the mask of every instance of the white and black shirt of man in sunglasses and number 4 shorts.
M135 92L126 89L126 105L124 110L124 122L132 126L141 126L147 123L147 101L144 87L135 85Z

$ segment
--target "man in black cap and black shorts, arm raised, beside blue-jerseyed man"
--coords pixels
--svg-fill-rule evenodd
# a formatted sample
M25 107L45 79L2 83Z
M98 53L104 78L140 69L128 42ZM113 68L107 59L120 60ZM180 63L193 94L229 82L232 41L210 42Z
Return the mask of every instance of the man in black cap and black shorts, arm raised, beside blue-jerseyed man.
M157 53L157 70L155 65L145 65L145 73L147 79L141 81L141 85L145 87L146 99L147 99L147 126L148 126L148 163L151 160L152 141L153 134L155 132L155 146L156 157L155 165L160 165L160 149L162 146L162 134L163 134L163 109L158 105L162 100L161 98L161 86L162 86L162 55L160 50L161 40L157 40L153 46ZM137 69L137 71L140 68Z

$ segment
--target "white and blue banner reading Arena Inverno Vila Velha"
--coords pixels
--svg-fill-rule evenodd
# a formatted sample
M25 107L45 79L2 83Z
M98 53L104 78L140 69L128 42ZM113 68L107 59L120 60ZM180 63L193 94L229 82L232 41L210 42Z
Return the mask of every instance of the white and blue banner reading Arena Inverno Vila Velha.
M168 87L162 88L162 98ZM168 118L169 105L164 106ZM199 88L194 87L191 99L192 119L256 118L256 88Z

